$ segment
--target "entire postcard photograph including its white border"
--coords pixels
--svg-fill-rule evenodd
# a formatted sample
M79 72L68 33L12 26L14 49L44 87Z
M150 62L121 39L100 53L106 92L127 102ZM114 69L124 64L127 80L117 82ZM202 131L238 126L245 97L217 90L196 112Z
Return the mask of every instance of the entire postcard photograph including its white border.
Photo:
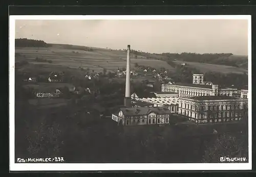
M250 15L11 15L10 170L251 169Z

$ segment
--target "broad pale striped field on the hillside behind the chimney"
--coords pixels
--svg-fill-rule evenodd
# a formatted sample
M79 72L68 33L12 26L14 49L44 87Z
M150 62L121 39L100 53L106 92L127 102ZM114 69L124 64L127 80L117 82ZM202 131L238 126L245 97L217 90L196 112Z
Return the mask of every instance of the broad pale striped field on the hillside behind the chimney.
M60 45L61 46L61 45ZM63 49L58 45L52 47L23 47L15 48L15 53L21 55L19 58L26 59L29 63L35 65L61 65L69 68L83 68L100 72L105 68L107 71L116 71L119 68L126 67L126 52L121 50L109 50L103 48L93 48L93 52ZM35 58L51 60L52 63L38 62ZM18 59L17 59L18 60ZM164 67L172 70L173 67L165 61L158 59L146 59L143 56L131 54L131 68L134 68L135 63L138 65L151 66L155 68Z

